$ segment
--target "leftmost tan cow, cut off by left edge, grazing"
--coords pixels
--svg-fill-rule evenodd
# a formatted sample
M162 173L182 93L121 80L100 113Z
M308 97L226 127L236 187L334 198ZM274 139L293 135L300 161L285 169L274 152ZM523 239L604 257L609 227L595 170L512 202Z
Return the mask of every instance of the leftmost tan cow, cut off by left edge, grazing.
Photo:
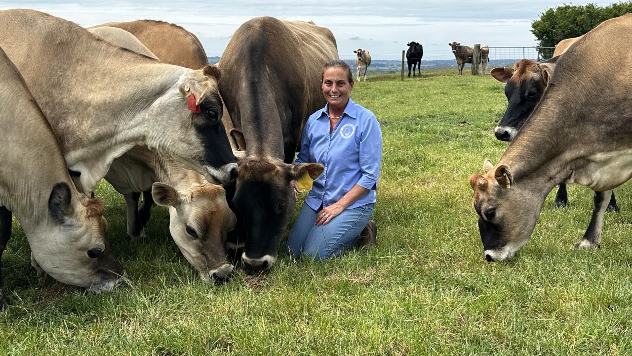
M31 248L33 267L91 291L125 274L104 238L104 203L75 189L59 141L20 73L0 49L0 288L11 213ZM6 299L0 289L0 309Z

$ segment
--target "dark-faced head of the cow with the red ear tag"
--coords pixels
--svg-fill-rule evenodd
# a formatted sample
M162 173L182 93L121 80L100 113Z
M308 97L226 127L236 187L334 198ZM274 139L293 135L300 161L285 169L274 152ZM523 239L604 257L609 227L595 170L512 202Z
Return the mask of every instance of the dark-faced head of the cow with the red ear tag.
M204 175L209 182L228 184L236 178L238 168L221 120L224 110L218 79L219 70L213 66L181 75L176 84L177 103L171 102L170 96L164 105L148 110L148 116L173 118L161 127L147 129L152 134L148 146ZM195 134L190 134L191 128Z

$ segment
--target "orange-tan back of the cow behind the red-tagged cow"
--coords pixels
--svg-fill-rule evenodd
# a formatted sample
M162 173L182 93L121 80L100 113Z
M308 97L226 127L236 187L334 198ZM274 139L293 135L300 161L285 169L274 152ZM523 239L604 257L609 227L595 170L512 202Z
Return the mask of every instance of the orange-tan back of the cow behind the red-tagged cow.
M173 23L156 20L110 22L90 27L118 27L135 35L161 61L180 67L200 69L209 64L200 40Z

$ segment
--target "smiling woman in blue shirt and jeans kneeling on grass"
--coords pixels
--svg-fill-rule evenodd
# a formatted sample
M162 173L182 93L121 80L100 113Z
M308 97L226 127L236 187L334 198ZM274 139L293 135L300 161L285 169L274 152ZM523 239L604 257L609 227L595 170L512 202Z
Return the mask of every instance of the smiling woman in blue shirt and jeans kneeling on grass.
M315 260L360 245L377 244L377 225L369 220L382 159L382 131L375 115L351 100L353 74L341 60L330 61L322 73L327 105L307 119L296 164L325 167L292 227L286 251ZM291 181L298 193L301 189Z

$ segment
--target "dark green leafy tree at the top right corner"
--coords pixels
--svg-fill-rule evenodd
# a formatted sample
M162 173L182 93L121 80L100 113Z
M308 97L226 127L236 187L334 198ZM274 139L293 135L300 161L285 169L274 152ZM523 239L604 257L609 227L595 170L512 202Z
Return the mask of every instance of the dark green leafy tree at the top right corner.
M562 5L550 8L531 24L538 46L553 47L562 39L578 37L610 18L632 13L632 1L608 6Z

